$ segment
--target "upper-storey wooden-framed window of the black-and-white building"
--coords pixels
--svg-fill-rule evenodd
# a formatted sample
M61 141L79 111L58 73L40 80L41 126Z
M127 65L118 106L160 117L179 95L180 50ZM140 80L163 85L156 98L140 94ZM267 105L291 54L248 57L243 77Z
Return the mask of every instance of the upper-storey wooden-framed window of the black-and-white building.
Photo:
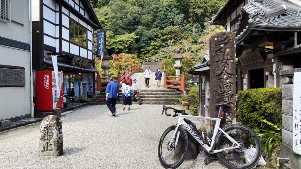
M77 23L69 20L70 26L70 41L79 44L81 46L87 47L87 29L79 26Z

